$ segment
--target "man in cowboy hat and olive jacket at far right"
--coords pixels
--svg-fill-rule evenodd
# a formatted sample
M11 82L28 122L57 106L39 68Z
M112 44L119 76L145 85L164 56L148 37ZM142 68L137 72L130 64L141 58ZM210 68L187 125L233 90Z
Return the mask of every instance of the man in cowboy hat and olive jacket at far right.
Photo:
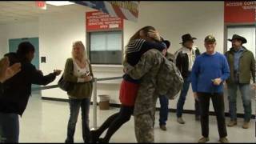
M250 79L253 79L255 86L255 59L254 54L247 50L242 44L246 43L246 38L234 34L232 39L232 48L226 52L226 58L230 66L230 78L227 79L227 87L230 105L230 122L227 126L237 125L236 99L237 90L242 94L242 103L244 107L244 123L242 128L248 129L251 118L251 97L250 97Z

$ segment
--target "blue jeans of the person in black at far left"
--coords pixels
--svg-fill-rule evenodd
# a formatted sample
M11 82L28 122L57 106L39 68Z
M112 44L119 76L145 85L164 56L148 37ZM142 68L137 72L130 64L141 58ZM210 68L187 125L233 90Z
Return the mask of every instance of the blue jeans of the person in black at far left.
M18 114L0 113L0 143L18 143Z

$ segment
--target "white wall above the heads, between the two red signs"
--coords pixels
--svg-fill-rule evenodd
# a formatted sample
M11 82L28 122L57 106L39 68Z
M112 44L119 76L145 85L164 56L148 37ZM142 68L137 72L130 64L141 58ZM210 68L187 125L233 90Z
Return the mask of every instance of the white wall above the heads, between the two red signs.
M205 51L203 39L206 35L214 34L217 51L222 52L223 15L224 2L141 2L138 23L125 22L125 43L134 31L150 25L172 42L170 51L173 53L181 47L181 36L186 33L198 38L194 44L201 51Z

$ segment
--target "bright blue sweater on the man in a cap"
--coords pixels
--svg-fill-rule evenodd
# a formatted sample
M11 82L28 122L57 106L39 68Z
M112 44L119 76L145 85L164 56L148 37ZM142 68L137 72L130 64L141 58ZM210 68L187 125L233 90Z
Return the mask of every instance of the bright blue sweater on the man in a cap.
M223 81L229 77L230 68L223 54L203 53L194 61L191 72L192 89L194 92L222 93ZM215 86L211 81L215 78L222 78L222 83L219 86Z

